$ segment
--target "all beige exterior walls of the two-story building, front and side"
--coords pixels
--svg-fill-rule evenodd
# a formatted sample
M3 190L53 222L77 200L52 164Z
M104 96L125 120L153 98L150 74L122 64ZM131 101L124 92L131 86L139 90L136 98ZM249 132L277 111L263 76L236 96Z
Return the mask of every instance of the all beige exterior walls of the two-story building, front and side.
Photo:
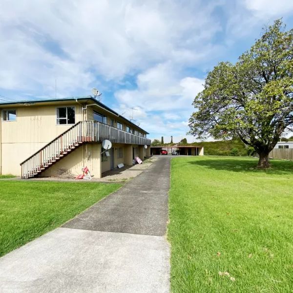
M62 106L75 106L75 123L83 120L93 120L93 109L97 112L104 114L107 117L107 124L111 125L111 119L114 120L114 126L117 127L117 122L123 124L123 130L126 130L126 125L134 128L137 131L141 131L133 125L128 125L123 119L115 116L114 114L106 111L98 106L87 106L86 111L82 110L83 105L76 103L75 101L62 101L42 103L39 105L13 105L13 106L1 106L0 116L3 109L16 109L17 120L16 121L2 121L0 117L0 174L14 174L21 175L20 163L30 157L33 153L41 149L50 141L55 139L58 135L69 129L72 125L57 125L57 107ZM97 144L87 144L88 149ZM114 147L114 167L117 167L119 163L125 165L132 165L132 145L123 146L123 158L117 158L117 150ZM72 151L69 155L60 159L60 161L54 164L52 167L44 171L43 176L50 176L49 174L56 175L60 173L62 169L68 169L68 172L80 174L81 168L85 165L91 164L92 172L101 174L110 169L110 158L106 162L101 162L100 153L97 152L97 148L93 148L93 158L89 162L84 161L86 154L84 153L84 147L80 146L76 150ZM118 145L117 145L118 147ZM136 155L138 153L138 146ZM82 151L83 150L83 151ZM99 158L97 157L99 155ZM143 159L142 156L141 159ZM95 163L94 160L98 160L99 163ZM97 169L96 166L99 165ZM91 166L90 165L90 166ZM89 167L89 166L88 166ZM95 174L94 174L95 175ZM96 175L95 175L96 176ZM101 176L101 175L97 175Z

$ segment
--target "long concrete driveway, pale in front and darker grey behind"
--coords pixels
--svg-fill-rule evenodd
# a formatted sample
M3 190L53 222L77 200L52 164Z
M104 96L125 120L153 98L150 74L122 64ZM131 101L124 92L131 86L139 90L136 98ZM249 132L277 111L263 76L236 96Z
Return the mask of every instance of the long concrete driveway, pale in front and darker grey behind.
M0 258L1 293L167 293L170 158Z

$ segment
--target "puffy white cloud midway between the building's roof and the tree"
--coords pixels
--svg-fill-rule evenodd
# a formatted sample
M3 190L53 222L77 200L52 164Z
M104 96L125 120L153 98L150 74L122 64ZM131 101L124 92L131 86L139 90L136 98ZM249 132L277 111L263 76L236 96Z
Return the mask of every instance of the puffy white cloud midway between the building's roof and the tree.
M159 64L137 77L137 88L115 93L118 103L139 106L146 111L182 110L189 108L195 95L203 89L204 80L180 78L170 63Z

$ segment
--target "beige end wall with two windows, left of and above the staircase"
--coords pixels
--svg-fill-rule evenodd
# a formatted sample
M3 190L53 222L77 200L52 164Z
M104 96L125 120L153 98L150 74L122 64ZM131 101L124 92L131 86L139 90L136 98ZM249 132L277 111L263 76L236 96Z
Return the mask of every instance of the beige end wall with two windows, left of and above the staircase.
M0 115L3 109L17 111L16 121L2 121L2 117L0 119L1 174L20 176L22 161L72 126L57 125L56 109L62 106L75 106L75 123L83 119L81 105L74 102L1 108Z

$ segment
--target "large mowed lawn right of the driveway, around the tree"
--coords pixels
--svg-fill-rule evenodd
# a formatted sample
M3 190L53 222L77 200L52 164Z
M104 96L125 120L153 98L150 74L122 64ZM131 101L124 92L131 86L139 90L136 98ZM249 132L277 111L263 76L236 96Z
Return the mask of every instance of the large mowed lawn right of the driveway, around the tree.
M293 292L293 162L171 161L171 292Z

